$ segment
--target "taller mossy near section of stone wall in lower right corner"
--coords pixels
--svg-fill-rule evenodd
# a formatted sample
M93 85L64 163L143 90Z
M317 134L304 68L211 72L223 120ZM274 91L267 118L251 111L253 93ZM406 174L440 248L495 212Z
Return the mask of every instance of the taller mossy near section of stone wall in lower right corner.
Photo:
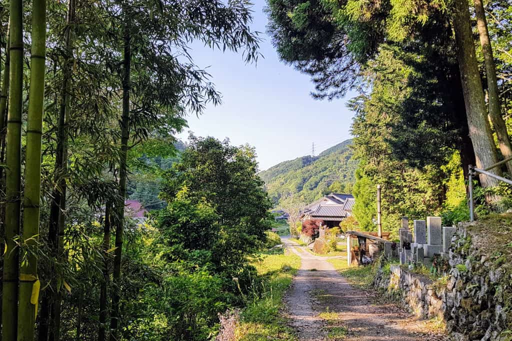
M512 340L512 260L501 227L457 228L444 300L446 329L456 340Z

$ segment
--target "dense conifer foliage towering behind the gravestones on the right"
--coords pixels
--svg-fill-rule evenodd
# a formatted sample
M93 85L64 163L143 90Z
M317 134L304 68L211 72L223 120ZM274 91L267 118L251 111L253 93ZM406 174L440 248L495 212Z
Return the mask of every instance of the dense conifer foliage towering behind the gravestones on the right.
M463 194L461 169L467 174L469 164L492 164L495 159L488 157L497 149L485 134L476 133L489 126L477 100L482 83L477 86L476 79L468 86L465 78L461 81L461 72L463 77L469 75L466 66L473 62L472 49L480 51L480 62L484 59L480 41L465 44L469 19L454 15L464 13L467 4L458 12L453 2L443 1L269 0L267 4L274 46L284 61L311 75L314 96L333 99L349 88L359 92L349 107L356 113L352 133L359 171L354 211L361 224L374 228L370 217L374 199L367 191L373 192L377 183L383 185L385 228L395 228L401 215L422 217L444 209L446 217L463 219L459 203L448 206L460 214L443 202L455 187ZM489 36L500 51L499 70L510 65L502 45L506 40L502 36L509 34L505 12L510 5L485 5ZM313 37L314 46L324 47L317 48L317 54L311 52L308 40ZM310 65L322 67L310 72ZM498 75L501 108L506 108L509 83L499 71ZM339 78L333 81L335 76ZM490 123L498 132L498 123ZM504 155L505 151L502 148ZM454 162L462 168L447 166ZM484 186L490 184L485 177L481 180Z

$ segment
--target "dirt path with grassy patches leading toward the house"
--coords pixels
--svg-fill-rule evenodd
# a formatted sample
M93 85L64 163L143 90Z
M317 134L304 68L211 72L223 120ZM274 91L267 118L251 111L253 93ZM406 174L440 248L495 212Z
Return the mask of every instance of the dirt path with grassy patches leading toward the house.
M302 259L285 297L284 314L300 340L445 340L425 322L392 304L374 304L372 295L353 288L324 257L284 240Z

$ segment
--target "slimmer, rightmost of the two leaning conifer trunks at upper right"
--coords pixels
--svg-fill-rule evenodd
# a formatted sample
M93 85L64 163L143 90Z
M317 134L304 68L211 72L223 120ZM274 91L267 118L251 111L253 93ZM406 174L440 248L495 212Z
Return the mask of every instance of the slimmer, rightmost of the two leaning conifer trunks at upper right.
M477 15L478 33L480 34L480 44L485 62L485 72L487 74L487 90L489 93L489 117L493 122L498 145L503 157L512 157L512 145L508 136L507 127L503 116L501 116L500 99L498 97L498 79L496 77L496 65L494 63L493 49L490 45L489 31L487 29L487 20L482 0L474 0L475 12ZM512 160L506 163L508 173L512 175Z

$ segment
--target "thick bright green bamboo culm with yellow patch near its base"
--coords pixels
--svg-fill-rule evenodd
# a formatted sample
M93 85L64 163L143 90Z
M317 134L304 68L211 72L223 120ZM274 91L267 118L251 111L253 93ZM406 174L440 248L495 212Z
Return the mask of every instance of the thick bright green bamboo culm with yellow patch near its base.
M27 119L23 240L29 250L37 247L41 194L42 106L45 96L46 0L32 3L32 49ZM18 341L34 340L39 296L37 257L28 252L19 273Z

